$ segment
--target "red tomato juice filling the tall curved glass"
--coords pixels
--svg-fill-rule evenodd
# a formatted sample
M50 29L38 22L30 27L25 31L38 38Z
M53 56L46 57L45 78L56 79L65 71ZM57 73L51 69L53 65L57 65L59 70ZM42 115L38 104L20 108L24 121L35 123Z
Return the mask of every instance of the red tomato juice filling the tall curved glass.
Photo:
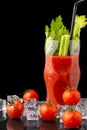
M44 80L47 101L64 105L62 94L66 87L78 88L80 80L79 56L45 57Z

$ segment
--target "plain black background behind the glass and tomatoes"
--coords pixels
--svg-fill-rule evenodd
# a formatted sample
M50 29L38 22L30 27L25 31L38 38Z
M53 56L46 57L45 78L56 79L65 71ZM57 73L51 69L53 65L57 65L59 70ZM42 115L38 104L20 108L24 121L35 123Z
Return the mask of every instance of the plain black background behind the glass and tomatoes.
M76 0L9 2L1 10L0 97L22 96L25 89L35 89L40 100L46 98L43 78L45 64L45 25L59 14L70 29ZM87 2L78 6L78 14L87 16ZM81 31L81 79L78 89L87 97L87 27Z

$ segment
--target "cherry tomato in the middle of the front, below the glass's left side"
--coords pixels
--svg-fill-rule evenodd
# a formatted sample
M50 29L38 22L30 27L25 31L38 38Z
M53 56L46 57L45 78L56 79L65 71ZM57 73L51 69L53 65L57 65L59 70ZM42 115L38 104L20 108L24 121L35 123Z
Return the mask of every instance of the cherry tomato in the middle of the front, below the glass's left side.
M43 103L39 108L39 114L43 120L54 120L58 114L57 105L50 102Z

